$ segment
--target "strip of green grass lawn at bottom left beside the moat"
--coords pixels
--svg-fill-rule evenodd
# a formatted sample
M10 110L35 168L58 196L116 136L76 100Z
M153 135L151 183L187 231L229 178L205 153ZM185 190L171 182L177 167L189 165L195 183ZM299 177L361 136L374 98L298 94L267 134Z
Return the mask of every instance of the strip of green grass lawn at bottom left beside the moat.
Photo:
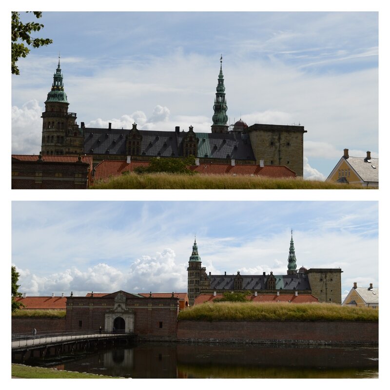
M25 379L112 379L112 376L95 374L83 374L74 371L62 371L42 367L23 366L21 364L11 365L11 376Z

